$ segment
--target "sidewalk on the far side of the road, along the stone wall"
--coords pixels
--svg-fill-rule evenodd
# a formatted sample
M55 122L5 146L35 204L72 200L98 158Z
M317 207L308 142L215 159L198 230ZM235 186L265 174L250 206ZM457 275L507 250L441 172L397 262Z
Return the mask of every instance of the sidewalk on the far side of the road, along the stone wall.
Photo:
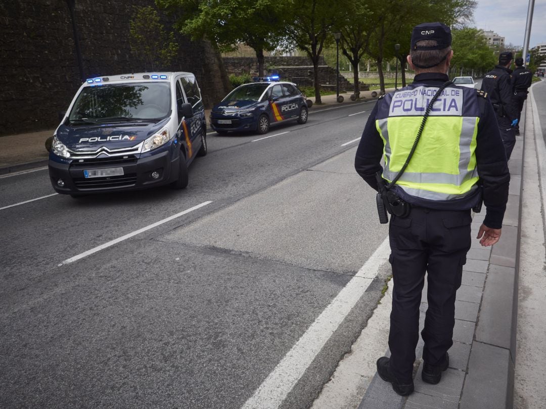
M386 91L391 91L388 88ZM313 106L310 112L325 109L331 105L354 104L372 99L373 91L364 91L360 93L360 101L351 101L351 93L340 94L344 101L340 104L336 101L336 95L324 95L322 104L314 104L314 97L310 97ZM376 91L377 92L377 91ZM205 110L207 121L209 120L210 110ZM43 130L18 135L0 136L0 175L6 173L18 172L35 167L46 166L48 164L49 152L45 149L45 141L53 135L55 129Z

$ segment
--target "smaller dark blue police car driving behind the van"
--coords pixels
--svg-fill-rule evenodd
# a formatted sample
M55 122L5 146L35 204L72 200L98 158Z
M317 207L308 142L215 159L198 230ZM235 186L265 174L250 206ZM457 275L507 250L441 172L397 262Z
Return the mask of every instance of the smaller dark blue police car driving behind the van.
M292 119L304 124L307 116L305 96L294 83L265 77L230 92L212 108L210 124L218 134L244 130L265 134L271 124Z

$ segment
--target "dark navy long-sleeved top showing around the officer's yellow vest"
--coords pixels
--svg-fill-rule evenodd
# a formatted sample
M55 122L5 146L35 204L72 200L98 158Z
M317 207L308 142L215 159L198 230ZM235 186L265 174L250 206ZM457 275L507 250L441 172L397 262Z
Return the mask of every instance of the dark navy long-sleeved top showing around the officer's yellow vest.
M440 87L447 80L448 76L445 74L423 73L416 75L413 82L424 86ZM376 172L383 172L383 167L381 166L383 140L379 136L375 123L377 107L382 103L384 103L384 100L379 99L370 113L354 161L355 169L359 175L375 190L377 190L375 174ZM493 107L483 97L478 97L478 104L480 107L480 116L475 152L478 176L480 184L482 184L483 201L486 207L484 224L490 228L501 228L506 210L506 202L508 201L510 173ZM395 189L400 197L407 202L415 206L428 208L444 210L471 209L479 200L478 191L464 197L464 199L433 201L411 196L398 185L395 185Z

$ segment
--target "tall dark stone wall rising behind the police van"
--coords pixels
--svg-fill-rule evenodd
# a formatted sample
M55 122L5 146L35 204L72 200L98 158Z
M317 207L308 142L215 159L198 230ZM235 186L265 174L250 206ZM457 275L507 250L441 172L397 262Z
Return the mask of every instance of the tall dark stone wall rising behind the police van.
M129 21L133 6L146 5L153 0L75 2L84 77L145 71L130 52ZM0 38L0 136L55 128L82 80L67 2L0 2ZM161 70L193 72L210 107L230 89L221 57L204 41L176 40L179 55Z

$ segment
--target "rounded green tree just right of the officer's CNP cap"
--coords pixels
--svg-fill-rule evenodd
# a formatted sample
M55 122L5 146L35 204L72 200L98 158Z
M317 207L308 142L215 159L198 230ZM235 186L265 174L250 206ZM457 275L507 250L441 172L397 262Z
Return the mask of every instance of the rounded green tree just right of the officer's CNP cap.
M452 31L454 50L451 66L454 74L486 73L497 63L497 57L487 44L483 31L461 28Z

